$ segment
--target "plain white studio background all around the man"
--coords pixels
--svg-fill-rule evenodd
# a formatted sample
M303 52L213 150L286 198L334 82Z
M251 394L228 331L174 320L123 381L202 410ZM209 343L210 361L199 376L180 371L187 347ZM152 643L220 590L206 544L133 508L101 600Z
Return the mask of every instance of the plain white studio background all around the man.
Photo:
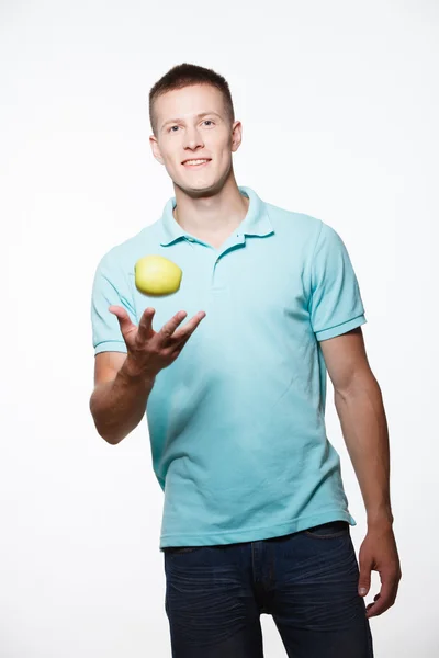
M439 653L436 2L78 0L0 5L2 658L170 656L162 494L145 420L89 412L102 254L161 214L147 97L190 61L228 80L238 184L341 235L392 444L403 580L376 658ZM358 551L365 514L328 388ZM368 597L379 591L378 576ZM285 656L263 615L268 658Z

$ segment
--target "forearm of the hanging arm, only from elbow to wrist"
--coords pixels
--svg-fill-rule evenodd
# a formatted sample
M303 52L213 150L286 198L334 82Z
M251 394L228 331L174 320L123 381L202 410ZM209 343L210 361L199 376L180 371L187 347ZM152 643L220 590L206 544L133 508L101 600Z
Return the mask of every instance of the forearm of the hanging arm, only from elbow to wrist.
M341 431L367 510L368 525L392 524L389 430L380 386L372 373L335 393Z

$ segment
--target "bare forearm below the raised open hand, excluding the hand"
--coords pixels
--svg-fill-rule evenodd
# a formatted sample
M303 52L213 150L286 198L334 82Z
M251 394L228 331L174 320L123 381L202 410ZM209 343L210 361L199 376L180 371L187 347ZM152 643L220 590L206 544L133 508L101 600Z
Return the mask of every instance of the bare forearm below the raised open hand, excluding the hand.
M116 444L132 432L145 415L154 379L133 372L126 360L112 382L98 384L90 398L90 411L98 433Z

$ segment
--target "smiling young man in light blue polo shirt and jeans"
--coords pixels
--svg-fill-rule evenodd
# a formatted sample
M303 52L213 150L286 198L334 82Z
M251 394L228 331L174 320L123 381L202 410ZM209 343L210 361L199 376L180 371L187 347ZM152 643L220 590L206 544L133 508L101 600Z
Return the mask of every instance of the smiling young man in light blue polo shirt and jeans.
M369 617L394 603L401 568L385 412L346 247L322 220L237 185L241 124L222 76L177 66L149 110L175 196L98 265L90 409L112 444L146 410L172 656L260 658L267 613L289 656L370 658ZM137 290L148 254L182 270L176 293ZM367 509L359 563L326 436L327 372ZM372 569L381 593L365 608Z

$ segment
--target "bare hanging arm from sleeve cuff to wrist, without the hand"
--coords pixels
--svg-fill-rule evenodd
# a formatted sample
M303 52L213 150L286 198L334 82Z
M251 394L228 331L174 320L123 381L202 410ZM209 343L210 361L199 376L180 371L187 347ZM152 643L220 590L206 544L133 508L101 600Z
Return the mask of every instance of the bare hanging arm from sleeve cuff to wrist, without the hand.
M335 406L364 500L368 524L392 525L387 422L361 327L319 344L334 385Z

